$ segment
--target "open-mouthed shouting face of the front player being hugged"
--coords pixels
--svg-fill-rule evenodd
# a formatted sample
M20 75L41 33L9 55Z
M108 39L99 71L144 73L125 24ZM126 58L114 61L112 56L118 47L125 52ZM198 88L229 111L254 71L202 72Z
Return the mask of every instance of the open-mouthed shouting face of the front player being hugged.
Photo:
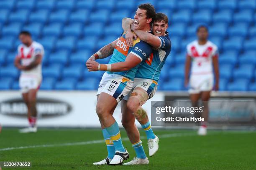
M138 8L134 15L134 29L143 30L148 25L152 18L147 18L146 10Z

